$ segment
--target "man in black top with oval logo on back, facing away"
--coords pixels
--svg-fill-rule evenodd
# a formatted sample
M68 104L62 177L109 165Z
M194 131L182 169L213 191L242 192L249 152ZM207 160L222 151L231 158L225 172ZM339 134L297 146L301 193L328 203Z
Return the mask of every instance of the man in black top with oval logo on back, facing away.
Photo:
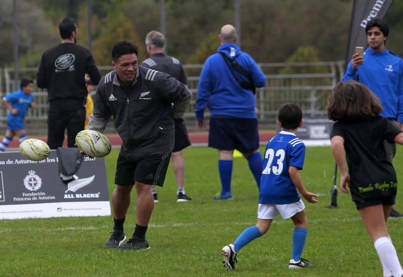
M36 80L37 85L47 88L48 92L47 144L50 149L62 146L66 128L68 146L74 147L86 117L85 73L95 85L101 78L91 52L76 44L74 21L63 19L59 31L61 43L43 53Z

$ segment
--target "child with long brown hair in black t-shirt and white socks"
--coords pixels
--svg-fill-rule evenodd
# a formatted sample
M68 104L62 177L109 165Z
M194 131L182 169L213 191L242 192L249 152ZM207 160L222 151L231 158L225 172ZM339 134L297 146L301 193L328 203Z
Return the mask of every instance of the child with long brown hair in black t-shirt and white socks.
M356 81L338 83L328 99L327 117L336 121L331 150L341 171L343 193L350 192L382 263L383 276L403 276L386 228L395 203L397 180L384 140L403 144L403 133L382 112L376 95ZM345 159L349 171L347 171Z

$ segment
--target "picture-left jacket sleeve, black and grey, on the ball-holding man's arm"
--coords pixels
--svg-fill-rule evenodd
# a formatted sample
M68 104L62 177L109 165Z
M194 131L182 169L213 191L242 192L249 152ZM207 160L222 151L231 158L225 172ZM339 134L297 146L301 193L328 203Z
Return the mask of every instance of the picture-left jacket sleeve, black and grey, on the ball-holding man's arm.
M101 81L103 78L101 79ZM107 85L99 85L94 98L94 110L90 116L87 129L103 133L109 122L112 112L105 102L105 89Z

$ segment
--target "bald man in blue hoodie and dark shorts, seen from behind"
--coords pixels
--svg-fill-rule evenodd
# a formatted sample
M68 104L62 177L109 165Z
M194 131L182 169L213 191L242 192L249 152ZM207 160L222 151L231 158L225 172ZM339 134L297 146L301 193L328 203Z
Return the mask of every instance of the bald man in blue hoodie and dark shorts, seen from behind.
M260 184L262 157L258 151L259 135L255 98L252 89L244 88L245 86L241 86L239 81L262 87L266 78L255 61L235 44L234 26L223 26L218 37L221 43L218 53L211 55L201 70L195 113L196 127L204 131L206 106L211 111L209 146L219 150L218 169L222 186L221 193L213 199L228 200L232 199L231 175L234 149L239 150L248 160L257 187ZM224 60L221 53L227 60ZM246 71L249 78L238 70L230 69L232 66L230 61L234 59Z

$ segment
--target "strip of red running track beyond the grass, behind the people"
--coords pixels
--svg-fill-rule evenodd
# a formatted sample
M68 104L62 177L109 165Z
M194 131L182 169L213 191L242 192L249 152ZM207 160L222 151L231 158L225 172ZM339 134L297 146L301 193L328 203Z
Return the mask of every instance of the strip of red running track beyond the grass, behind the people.
M275 132L268 132L268 131L260 131L259 132L259 141L260 144L266 144L267 141L269 141L271 138L273 138L276 135ZM113 134L107 134L106 135L115 148L120 146L122 144L122 140L118 135L113 135ZM43 140L46 142L47 138L46 137L34 137L34 136L28 136L29 138L37 138L40 140ZM189 133L189 139L194 146L207 146L208 143L208 138L209 138L209 133L208 132L200 132L200 133ZM63 146L67 146L67 140L64 139ZM10 148L18 148L18 138L14 137L13 141L9 145Z

